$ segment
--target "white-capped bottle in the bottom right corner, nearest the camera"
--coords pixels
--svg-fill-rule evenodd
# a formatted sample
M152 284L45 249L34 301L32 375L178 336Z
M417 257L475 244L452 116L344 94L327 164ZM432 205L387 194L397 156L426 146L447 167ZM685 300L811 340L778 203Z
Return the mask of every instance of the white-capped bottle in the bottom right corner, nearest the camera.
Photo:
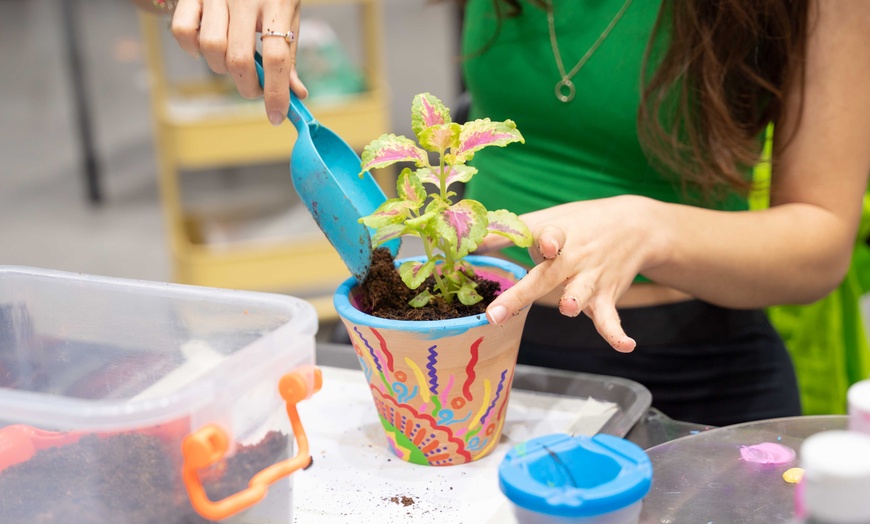
M801 446L803 506L832 524L870 522L870 435L823 431Z

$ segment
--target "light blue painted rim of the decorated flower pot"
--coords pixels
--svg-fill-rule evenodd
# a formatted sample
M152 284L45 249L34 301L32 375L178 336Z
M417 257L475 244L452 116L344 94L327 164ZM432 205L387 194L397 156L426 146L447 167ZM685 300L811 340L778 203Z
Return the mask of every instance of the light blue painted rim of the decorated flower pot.
M398 267L403 262L409 260L425 261L425 256L403 258L396 261ZM507 271L512 274L517 280L526 275L526 270L520 265L500 258L470 255L465 258L469 263L481 269L497 268ZM339 316L347 319L354 324L369 326L379 329L396 329L410 332L425 332L432 333L440 330L444 331L464 331L477 326L482 326L489 321L486 315L474 315L470 317L451 318L448 320L391 320L386 318L375 317L367 313L363 313L350 303L350 292L357 285L357 280L350 277L338 286L338 289L333 295L332 303Z

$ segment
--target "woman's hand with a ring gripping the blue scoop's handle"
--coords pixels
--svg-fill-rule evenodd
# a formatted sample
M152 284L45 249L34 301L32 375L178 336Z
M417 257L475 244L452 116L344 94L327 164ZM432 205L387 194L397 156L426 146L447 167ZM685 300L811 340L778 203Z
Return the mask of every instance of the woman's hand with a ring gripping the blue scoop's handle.
M263 95L269 121L279 125L290 107L289 89L300 99L308 96L296 75L299 6L300 0L179 0L172 34L185 51L202 54L212 71L232 76L243 97ZM270 32L292 32L292 37L263 38L264 88L260 89L254 50L257 33Z

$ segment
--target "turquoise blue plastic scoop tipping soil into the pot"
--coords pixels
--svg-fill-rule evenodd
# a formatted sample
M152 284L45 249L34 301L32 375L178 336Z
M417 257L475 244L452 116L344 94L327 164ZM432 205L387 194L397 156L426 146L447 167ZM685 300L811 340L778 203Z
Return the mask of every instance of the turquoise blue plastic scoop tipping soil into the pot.
M263 85L263 63L255 53ZM357 281L372 261L371 231L359 219L370 215L387 197L368 172L360 178L360 157L344 140L321 125L290 91L290 122L298 137L290 158L290 177L299 198ZM376 137L372 137L376 138ZM385 244L393 255L400 240Z

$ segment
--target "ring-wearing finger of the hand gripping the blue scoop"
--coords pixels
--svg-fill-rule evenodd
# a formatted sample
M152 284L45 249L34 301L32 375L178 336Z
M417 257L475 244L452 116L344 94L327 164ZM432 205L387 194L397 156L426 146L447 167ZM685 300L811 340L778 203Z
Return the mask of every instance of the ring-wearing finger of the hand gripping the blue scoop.
M293 14L287 3L275 6L270 4L263 13L263 33L277 31L284 33L291 29ZM295 28L298 29L298 26ZM298 38L298 35L296 35ZM272 125L284 121L290 107L290 73L293 71L293 57L296 41L287 42L281 37L263 38L263 96L265 98L266 115Z

